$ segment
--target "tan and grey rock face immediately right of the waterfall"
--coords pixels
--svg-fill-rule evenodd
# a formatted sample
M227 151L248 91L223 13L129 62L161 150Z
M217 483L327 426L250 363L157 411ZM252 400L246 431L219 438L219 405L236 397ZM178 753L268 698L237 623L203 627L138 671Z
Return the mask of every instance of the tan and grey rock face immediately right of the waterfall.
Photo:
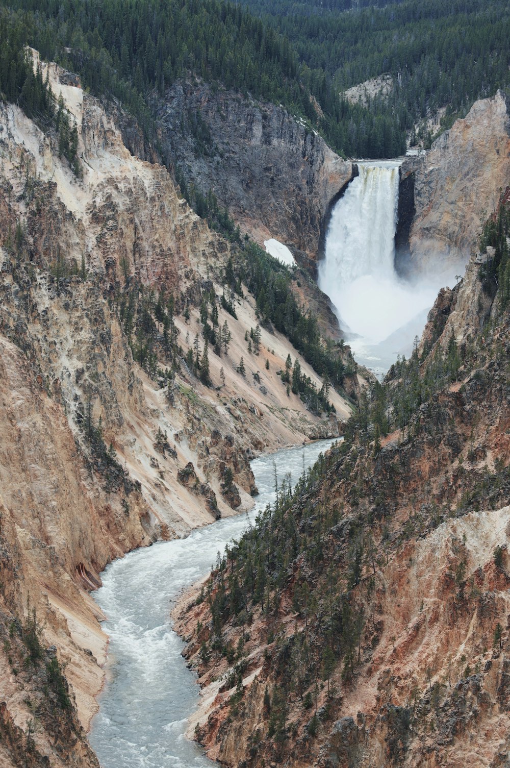
M510 119L505 98L475 102L422 157L402 164L414 177L416 214L409 235L414 271L466 263L482 220L510 177Z

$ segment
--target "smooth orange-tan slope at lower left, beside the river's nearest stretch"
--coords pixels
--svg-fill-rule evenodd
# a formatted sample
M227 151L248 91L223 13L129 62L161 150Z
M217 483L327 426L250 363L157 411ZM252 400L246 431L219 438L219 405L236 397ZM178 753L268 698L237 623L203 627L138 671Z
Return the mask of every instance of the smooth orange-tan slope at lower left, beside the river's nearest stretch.
M154 516L136 490L108 494L98 475L87 472L58 397L39 385L22 350L3 336L0 434L0 690L7 702L0 764L11 766L17 750L51 757L62 768L97 766L83 727L101 687L104 640L84 590L99 583L109 560L156 538ZM40 654L26 639L32 610ZM51 645L68 662L67 693L59 700L48 677L45 646ZM30 737L34 711L38 727Z

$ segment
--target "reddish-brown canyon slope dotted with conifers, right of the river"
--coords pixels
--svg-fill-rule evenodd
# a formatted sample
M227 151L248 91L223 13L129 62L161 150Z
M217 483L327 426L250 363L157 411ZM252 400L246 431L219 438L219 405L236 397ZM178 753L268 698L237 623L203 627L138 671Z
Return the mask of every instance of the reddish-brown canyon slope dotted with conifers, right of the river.
M508 763L508 327L473 258L357 434L182 601L211 756Z

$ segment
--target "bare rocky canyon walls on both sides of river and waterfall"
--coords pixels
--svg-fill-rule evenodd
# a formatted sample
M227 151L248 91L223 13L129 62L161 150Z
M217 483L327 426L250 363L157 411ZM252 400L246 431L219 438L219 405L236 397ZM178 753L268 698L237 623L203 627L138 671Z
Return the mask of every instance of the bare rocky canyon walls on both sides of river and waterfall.
M200 81L179 81L158 106L160 140L187 178L214 190L243 233L258 243L277 237L306 267L290 276L291 290L318 315L346 371L343 389L329 391L334 411L317 415L285 386L287 356L316 391L323 379L283 333L260 323L246 285L242 296L228 286L226 294L243 239L225 239L194 214L118 108L106 109L57 65L41 66L78 127L81 174L59 157L51 131L0 104L0 766L85 768L98 765L86 734L106 637L90 592L105 565L250 508L250 459L348 432L373 376L337 344L333 313L309 276L330 204L356 174L351 161L283 108ZM211 154L197 151L197 114ZM257 606L248 628L225 621L224 643L243 649L243 695L234 701L233 665L217 650L207 663L200 655L213 637L210 606L200 588L184 599L177 626L210 693L194 734L229 765L446 766L472 760L473 750L494 768L507 760L508 334L475 263L480 219L496 212L508 183L502 95L477 102L430 153L406 161L400 178L415 210L402 238L406 265L427 270L438 254L454 262L472 251L464 280L431 310L420 347L425 374L453 337L464 346L462 376L387 435L358 424L359 441L325 459L322 485L314 481L292 502L305 533L316 533L317 515L333 505L323 545L342 573L352 568L356 531L373 526L373 545L364 548L375 565L363 561L349 598L370 617L356 671L345 675L337 664L326 680L316 662L312 729L303 687L283 730L277 723L268 735L281 683L273 660L297 654L304 664L296 638L308 617L296 584L308 578L320 592L323 572L301 553L269 615ZM157 362L142 366L132 347L139 353L143 337L129 338L121 309L136 290L139 329L162 287L173 296L181 351L177 359L165 354L158 324ZM218 309L230 339L221 356L210 347L207 386L186 359L195 339L204 353L200 313L211 292L218 304L230 301L230 311ZM258 352L250 341L257 326ZM390 372L394 389L399 376ZM323 652L321 637L312 636L313 654Z

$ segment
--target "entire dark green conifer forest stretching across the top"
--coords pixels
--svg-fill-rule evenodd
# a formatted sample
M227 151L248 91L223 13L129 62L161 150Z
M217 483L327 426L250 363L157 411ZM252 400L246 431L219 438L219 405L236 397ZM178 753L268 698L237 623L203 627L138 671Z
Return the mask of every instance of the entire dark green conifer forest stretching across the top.
M92 92L118 98L150 138L147 94L164 96L177 78L194 73L283 104L342 154L391 157L405 150L406 131L439 108L447 126L510 78L504 0L407 0L380 8L351 0L249 0L251 10L220 0L2 5L2 39L18 51L7 58L5 48L5 61L18 68L20 45L33 45L77 71ZM24 81L11 70L4 63L2 92L18 101ZM351 104L339 97L385 72L393 81L388 98Z

